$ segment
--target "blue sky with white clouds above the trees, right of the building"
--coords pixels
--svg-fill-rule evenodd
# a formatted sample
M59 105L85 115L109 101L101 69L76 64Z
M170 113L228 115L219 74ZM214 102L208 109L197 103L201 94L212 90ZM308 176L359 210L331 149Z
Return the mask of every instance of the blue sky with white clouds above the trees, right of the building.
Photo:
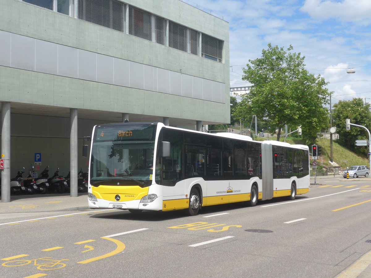
M332 104L354 97L371 103L371 0L193 1L229 22L230 87L251 85L242 68L268 43L291 44L305 68L329 82Z

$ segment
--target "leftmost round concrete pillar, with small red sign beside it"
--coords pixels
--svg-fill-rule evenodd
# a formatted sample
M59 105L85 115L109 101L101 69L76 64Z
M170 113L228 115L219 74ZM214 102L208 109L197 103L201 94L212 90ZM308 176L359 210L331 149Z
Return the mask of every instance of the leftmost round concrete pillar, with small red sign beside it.
M1 124L1 202L10 202L10 102L1 103Z

